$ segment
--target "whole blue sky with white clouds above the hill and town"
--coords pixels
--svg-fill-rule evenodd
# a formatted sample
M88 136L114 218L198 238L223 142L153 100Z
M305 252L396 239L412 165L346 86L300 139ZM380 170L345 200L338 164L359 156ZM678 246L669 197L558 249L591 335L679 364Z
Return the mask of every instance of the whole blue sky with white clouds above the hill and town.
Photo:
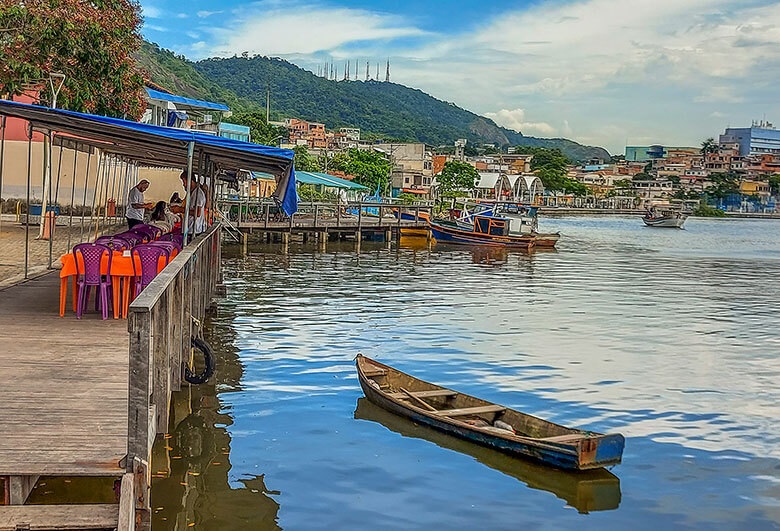
M780 122L780 1L141 0L144 38L390 79L528 136L699 146ZM354 75L354 74L353 74ZM327 126L328 124L326 124Z

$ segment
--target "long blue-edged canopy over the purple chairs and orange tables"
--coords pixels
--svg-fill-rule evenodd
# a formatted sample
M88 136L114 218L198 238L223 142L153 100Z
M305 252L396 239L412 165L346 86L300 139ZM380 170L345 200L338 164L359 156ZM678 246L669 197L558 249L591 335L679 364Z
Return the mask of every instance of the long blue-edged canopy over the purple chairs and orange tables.
M274 175L277 179L274 196L285 213L292 215L298 208L295 153L289 149L7 100L0 100L0 115L28 120L37 129L74 135L104 152L149 166L186 168L192 146L193 160L201 160L202 156L218 170L263 171Z

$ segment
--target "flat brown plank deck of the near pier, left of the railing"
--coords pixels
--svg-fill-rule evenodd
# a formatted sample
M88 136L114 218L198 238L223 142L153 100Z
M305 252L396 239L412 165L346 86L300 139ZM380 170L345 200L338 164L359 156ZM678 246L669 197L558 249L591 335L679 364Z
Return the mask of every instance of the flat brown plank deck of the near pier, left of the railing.
M59 276L0 291L0 476L120 476L126 320L59 317ZM68 293L70 297L70 292Z

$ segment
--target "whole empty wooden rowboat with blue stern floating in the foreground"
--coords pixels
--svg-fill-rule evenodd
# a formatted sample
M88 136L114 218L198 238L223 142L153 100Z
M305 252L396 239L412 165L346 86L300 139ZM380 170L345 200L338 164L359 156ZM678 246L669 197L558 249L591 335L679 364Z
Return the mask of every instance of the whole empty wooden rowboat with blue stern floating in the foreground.
M622 459L625 439L619 433L567 428L425 382L362 354L355 363L366 398L414 422L568 470L603 468Z

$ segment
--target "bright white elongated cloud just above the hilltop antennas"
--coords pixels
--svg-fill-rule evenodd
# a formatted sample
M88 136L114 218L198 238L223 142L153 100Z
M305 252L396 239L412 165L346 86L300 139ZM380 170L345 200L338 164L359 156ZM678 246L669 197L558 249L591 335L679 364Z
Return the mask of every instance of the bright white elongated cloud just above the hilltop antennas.
M298 6L264 10L238 28L218 32L215 55L249 52L262 55L338 54L340 47L363 41L389 41L423 35L400 17L359 9ZM341 55L341 54L338 54Z

